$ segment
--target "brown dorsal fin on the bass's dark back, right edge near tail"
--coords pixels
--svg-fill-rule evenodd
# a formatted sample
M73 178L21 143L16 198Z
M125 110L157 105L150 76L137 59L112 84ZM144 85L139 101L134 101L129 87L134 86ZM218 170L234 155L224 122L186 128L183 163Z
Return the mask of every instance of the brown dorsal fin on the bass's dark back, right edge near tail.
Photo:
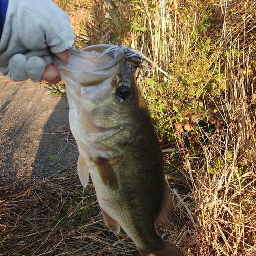
M174 221L174 205L172 197L169 193L169 189L167 186L165 187L164 199L162 202L161 211L157 216L157 220L161 225L168 227L170 222Z

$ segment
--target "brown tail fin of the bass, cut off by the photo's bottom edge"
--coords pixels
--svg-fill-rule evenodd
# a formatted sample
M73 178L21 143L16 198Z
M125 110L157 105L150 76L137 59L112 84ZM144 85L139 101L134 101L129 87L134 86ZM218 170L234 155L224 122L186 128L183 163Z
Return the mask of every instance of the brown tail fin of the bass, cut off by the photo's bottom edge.
M141 256L184 256L179 249L165 240L163 240L163 244L160 249L155 251L144 251L138 248L138 251Z

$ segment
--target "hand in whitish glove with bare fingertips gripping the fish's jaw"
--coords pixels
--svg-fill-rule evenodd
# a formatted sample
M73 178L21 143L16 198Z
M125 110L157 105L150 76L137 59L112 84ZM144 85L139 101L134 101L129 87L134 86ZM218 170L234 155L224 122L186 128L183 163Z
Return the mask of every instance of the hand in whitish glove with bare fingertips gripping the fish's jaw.
M0 40L0 72L12 81L36 82L43 74L49 80L51 73L58 75L50 53L68 63L74 38L68 14L51 0L9 0Z

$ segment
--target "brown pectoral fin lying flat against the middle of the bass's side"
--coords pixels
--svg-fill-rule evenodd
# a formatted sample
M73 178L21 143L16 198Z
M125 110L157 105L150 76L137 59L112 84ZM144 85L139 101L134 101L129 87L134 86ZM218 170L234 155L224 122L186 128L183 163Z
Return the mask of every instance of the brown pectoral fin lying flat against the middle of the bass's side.
M103 157L98 157L97 160L93 160L98 172L101 176L101 179L103 183L112 188L112 189L117 189L118 188L118 183L117 183L117 178L114 170L110 166L108 159L103 158Z

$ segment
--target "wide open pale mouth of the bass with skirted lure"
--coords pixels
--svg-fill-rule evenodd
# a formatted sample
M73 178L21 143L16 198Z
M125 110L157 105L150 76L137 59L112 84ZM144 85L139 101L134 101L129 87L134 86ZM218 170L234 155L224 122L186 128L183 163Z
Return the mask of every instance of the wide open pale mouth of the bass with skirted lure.
M97 85L115 76L123 60L133 72L145 67L145 60L141 53L121 45L93 45L82 50L70 52L70 62L65 65L52 55L53 63L61 75L65 75L80 84L80 86Z

